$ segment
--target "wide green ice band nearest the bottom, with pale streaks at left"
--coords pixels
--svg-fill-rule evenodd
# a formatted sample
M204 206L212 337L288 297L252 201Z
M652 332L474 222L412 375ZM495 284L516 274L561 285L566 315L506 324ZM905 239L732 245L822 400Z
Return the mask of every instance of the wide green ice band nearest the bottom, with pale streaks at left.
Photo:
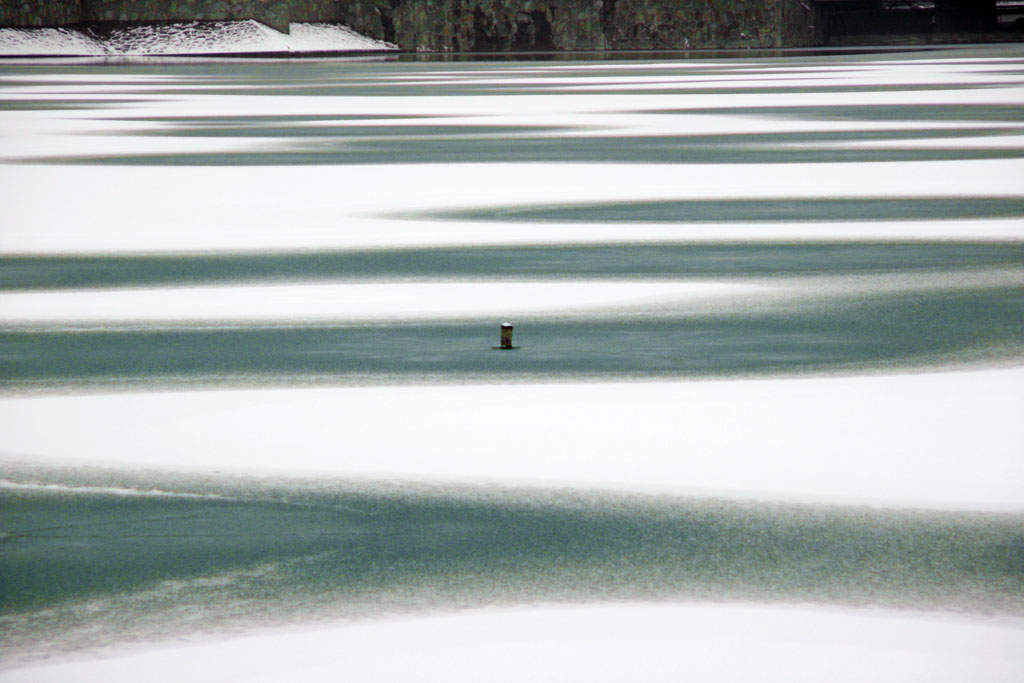
M166 637L185 624L547 600L1024 612L1020 515L152 472L4 475L225 497L0 489L8 655Z

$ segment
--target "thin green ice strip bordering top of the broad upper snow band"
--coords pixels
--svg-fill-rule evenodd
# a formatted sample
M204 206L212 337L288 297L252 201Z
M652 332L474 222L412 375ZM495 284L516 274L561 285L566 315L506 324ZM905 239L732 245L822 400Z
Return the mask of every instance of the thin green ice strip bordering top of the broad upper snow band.
M250 131L253 132L253 131ZM1008 131L1009 132L1009 131ZM1019 130L1015 130L1019 133ZM972 137L957 132L957 137ZM129 153L67 155L11 160L16 164L111 165L111 166L315 166L336 164L489 164L505 163L624 163L624 164L798 164L852 162L927 162L944 160L1020 159L1016 142L972 148L934 150L885 145L835 146L838 133L794 133L735 136L635 136L635 137L485 137L461 136L457 131L436 135L383 138L340 136L291 137L275 148L241 152ZM849 141L908 139L920 136L900 132L880 137L851 133ZM998 135L993 135L998 139ZM280 145L280 146L276 146ZM808 145L808 146L802 146ZM259 143L254 143L258 147Z

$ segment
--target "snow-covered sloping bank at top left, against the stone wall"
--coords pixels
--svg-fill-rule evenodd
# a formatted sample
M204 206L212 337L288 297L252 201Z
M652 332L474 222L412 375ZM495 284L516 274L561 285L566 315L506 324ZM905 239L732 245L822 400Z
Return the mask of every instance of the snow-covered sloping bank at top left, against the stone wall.
M254 22L134 26L97 37L75 29L0 29L0 56L111 56L249 52L351 52L394 45L335 24L292 24L290 34Z

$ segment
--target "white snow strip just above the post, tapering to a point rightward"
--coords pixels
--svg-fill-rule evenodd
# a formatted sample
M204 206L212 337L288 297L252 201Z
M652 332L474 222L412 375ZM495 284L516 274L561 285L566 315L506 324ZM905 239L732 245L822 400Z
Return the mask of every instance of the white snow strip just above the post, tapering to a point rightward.
M0 294L6 325L472 319L705 303L764 287L678 281L289 284Z

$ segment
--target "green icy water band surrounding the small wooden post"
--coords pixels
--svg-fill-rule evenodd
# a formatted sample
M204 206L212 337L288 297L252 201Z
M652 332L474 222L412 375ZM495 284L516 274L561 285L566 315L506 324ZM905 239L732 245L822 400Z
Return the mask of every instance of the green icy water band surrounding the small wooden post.
M1024 353L1024 291L825 299L731 314L293 328L7 331L0 387L304 379L707 377L992 361Z

